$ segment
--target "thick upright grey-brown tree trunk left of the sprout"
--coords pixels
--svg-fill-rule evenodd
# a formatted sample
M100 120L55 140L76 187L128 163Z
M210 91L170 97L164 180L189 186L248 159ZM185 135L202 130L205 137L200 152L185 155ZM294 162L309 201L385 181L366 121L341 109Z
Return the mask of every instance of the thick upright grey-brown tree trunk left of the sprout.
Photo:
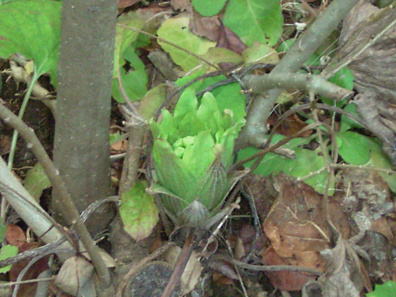
M116 0L63 1L54 162L80 212L110 192L116 6ZM54 192L52 208L60 207Z

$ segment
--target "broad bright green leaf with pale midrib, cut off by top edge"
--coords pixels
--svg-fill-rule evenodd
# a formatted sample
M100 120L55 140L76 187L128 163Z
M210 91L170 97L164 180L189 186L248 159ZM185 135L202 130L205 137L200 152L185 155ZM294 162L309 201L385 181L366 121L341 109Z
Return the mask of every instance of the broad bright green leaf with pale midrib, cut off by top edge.
M230 0L223 23L248 47L255 41L274 46L282 35L282 8L278 0Z

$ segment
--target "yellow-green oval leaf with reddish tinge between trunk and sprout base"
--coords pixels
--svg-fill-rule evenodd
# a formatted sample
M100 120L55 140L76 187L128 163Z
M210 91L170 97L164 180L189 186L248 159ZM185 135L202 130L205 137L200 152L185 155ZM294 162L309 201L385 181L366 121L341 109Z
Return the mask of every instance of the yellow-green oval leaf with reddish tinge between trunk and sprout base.
M120 215L124 228L137 242L151 234L159 219L154 197L145 188L146 185L138 180L121 197Z

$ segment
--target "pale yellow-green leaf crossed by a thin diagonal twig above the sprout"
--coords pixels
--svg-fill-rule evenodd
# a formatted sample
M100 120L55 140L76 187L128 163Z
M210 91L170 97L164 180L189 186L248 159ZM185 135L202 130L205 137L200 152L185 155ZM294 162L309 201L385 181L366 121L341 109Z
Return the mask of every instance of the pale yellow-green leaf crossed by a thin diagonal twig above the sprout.
M191 53L203 55L209 48L214 47L216 43L192 34L188 25L189 21L190 17L188 16L168 19L162 23L157 34L159 37L172 42ZM191 55L191 53L176 48L175 46L167 44L161 40L158 40L158 44L160 44L164 51L169 53L172 60L177 65L180 65L186 72L203 63L197 57Z

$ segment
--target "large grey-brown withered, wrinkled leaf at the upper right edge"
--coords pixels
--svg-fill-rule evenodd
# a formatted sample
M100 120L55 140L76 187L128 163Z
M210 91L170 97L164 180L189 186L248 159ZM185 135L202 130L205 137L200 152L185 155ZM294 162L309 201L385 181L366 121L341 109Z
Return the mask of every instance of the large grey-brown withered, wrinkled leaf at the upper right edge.
M396 162L396 9L379 9L361 0L343 21L339 52L329 65L350 62L359 94L354 103L370 131L383 141L383 148ZM392 25L393 24L393 25ZM369 45L367 47L367 45ZM366 48L367 47L367 48Z

